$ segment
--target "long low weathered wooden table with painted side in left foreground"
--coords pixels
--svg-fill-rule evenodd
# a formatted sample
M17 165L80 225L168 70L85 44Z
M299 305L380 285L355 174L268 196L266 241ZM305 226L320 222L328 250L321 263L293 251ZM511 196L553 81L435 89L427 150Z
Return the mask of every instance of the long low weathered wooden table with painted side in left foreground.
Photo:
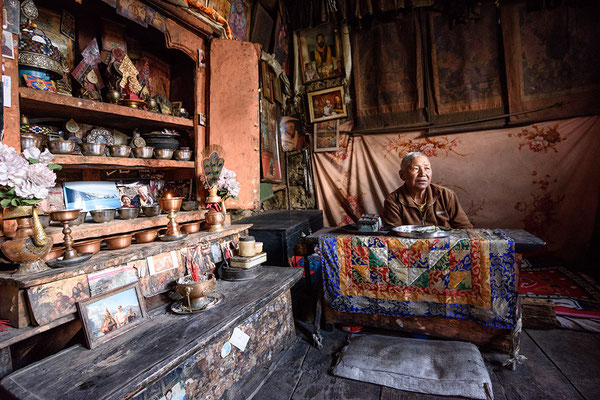
M233 385L295 340L290 287L296 268L262 267L256 279L218 281L223 300L191 315L159 313L93 350L70 347L0 381L18 399L154 399L176 385L188 398L234 398ZM221 350L234 328L245 351Z

